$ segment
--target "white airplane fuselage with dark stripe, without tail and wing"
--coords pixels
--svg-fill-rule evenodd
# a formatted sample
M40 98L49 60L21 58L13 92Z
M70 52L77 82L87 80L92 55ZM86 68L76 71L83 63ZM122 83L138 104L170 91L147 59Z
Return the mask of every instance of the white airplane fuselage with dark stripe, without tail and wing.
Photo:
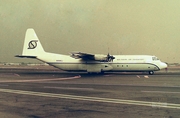
M65 71L120 72L120 71L158 71L167 65L155 56L149 55L114 55L113 62L82 61L68 55L45 53L37 59Z

